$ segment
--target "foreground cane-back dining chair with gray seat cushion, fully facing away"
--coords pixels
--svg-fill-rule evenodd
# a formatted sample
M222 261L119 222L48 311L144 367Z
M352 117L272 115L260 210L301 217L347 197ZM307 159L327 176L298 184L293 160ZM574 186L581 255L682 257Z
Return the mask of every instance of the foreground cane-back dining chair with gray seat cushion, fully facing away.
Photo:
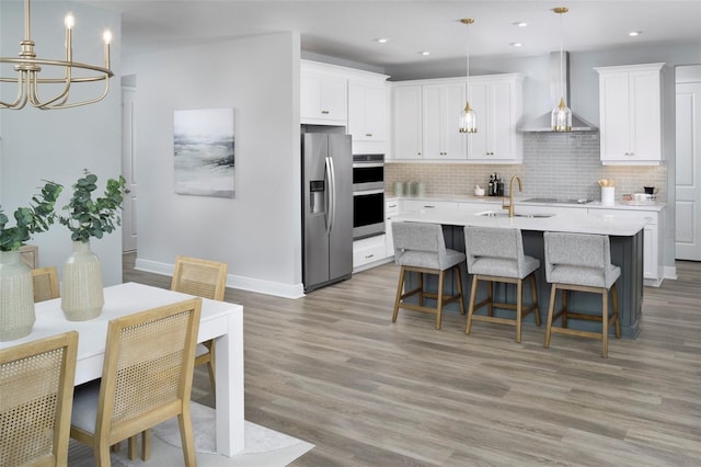
M202 298L152 308L110 321L99 383L76 388L70 436L91 446L96 466L110 466L110 446L177 417L186 466L195 466L189 398Z

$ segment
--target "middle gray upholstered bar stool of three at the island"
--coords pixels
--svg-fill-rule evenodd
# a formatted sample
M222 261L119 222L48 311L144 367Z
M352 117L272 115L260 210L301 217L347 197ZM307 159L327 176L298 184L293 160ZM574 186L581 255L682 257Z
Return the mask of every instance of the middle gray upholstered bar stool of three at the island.
M536 275L540 261L524 253L524 239L520 229L496 227L464 228L464 251L468 259L468 272L472 274L472 291L468 306L467 334L472 329L472 321L487 321L499 324L516 326L516 342L521 341L521 320L530 312L536 315L536 323L540 326L538 309L538 287ZM524 308L524 280L530 277L532 304ZM487 282L487 296L475 304L479 281ZM495 303L494 283L516 284L516 304ZM487 315L474 315L475 309L487 306ZM494 316L494 308L516 310L516 319Z

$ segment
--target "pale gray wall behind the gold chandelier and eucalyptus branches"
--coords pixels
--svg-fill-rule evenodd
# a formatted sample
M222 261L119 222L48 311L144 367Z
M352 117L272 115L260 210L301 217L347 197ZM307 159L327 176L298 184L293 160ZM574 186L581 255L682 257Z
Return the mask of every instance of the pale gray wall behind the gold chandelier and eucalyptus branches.
M118 14L65 1L32 2L32 38L41 58L64 58L64 16L71 11L76 16L73 57L76 60L102 64L102 30L113 35L112 68L116 77L105 100L77 109L39 111L0 110L0 201L11 217L18 206L25 206L43 180L65 185L57 207L68 204L70 185L82 175L84 168L100 178L100 192L108 178L120 173L120 18ZM0 53L16 56L24 36L24 13L21 1L0 2ZM11 70L11 68L10 68ZM3 75L9 72L3 68ZM2 99L14 100L16 88L2 84ZM56 225L51 230L34 237L39 247L39 263L61 264L71 252L70 232ZM122 232L116 231L101 240L93 239L92 248L102 260L105 285L122 282Z

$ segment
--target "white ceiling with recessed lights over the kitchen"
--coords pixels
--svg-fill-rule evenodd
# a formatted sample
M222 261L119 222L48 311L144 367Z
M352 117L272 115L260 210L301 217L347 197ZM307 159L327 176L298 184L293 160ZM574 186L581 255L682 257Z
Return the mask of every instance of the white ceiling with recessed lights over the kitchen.
M701 45L701 0L78 1L123 13L126 56L281 31L299 32L303 53L378 70L464 60L468 44L471 57L541 55L559 50L561 38L570 52ZM570 12L558 15L554 7ZM472 18L474 24L466 26L461 18ZM515 25L519 21L528 26ZM641 34L631 37L630 31ZM380 37L388 42L376 42ZM430 55L421 55L424 50Z

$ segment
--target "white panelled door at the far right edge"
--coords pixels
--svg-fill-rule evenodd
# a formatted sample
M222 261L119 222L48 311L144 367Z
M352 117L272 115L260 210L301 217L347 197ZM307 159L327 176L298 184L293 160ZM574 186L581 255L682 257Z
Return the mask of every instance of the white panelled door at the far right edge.
M701 261L701 65L676 68L675 258Z

